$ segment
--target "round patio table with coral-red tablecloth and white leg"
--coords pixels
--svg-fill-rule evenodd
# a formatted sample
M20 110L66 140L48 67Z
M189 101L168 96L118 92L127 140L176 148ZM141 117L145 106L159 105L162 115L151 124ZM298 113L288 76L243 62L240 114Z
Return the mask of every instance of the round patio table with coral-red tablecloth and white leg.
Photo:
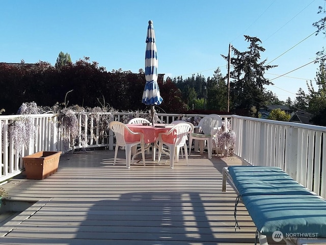
M157 138L159 133L166 133L171 128L173 128L173 124L155 124L154 126L142 125L142 124L127 124L126 125L132 132L135 133L143 133L144 134L144 143L147 144L146 149L152 146L152 160L155 161L156 148L157 148ZM126 135L126 140L130 137L130 141L132 141L132 135ZM136 153L135 155L138 155Z

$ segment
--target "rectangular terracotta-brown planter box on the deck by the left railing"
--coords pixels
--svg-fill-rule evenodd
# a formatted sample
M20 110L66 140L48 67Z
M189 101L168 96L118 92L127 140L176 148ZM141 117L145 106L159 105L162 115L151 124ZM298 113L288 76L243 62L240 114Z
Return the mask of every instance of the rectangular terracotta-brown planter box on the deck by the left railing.
M28 179L42 180L58 170L61 152L37 152L23 157Z

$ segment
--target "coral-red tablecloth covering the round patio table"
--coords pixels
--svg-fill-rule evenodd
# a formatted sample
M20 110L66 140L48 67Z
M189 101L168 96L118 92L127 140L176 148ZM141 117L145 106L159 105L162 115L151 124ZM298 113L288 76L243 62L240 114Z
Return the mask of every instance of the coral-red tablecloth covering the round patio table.
M156 126L164 125L164 124L155 124ZM127 127L135 133L143 133L144 134L144 143L153 143L157 141L157 137L159 133L166 133L171 128L173 128L174 125L166 125L165 128L155 128L154 126L144 126L141 124L127 124ZM128 142L133 142L134 140L133 135L130 133L125 132L125 139ZM138 136L139 138L139 136Z

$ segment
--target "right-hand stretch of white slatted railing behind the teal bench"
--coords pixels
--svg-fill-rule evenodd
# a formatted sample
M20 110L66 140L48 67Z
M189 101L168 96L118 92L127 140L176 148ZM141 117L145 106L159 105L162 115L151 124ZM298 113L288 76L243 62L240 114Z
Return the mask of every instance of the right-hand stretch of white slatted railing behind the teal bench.
M326 198L326 127L232 116L243 163L278 166Z

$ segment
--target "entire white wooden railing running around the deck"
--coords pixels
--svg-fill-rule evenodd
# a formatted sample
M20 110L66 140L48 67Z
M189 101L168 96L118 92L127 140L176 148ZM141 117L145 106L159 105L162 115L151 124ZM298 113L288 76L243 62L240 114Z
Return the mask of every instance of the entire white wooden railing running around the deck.
M116 113L114 120L123 121L124 116L128 114ZM21 173L23 156L38 151L67 150L64 135L68 132L64 128L58 128L57 116L40 114L28 115L34 120L37 134L30 145L23 146L21 156L15 154L10 134L11 125L14 120L23 116L26 115L0 116L0 182ZM180 114L158 114L158 117L162 122L170 123L180 119ZM326 127L236 115L221 117L223 120L231 120L231 128L237 137L234 154L242 159L244 164L279 166L299 183L326 198ZM79 114L78 122L78 143L69 145L69 150L103 146L109 150L114 149L113 133L100 132L94 114Z

